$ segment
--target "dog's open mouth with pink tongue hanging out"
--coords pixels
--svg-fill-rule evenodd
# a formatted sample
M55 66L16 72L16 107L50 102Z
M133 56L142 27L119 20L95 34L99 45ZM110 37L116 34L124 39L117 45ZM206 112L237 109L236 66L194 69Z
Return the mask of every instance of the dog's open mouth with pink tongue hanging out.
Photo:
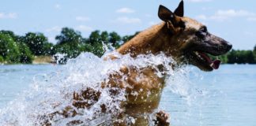
M205 64L208 64L213 69L219 69L221 63L220 60L212 60L208 54L199 51L194 51L194 54L198 57L199 60L201 60Z

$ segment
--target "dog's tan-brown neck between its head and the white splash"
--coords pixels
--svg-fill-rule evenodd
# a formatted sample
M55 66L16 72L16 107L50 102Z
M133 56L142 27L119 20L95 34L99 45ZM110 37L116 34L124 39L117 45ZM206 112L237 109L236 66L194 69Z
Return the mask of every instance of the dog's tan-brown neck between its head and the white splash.
M159 54L161 51L170 54L171 35L168 34L166 24L156 24L151 28L142 31L133 39L126 42L117 50L119 54L129 54L136 57L139 54Z

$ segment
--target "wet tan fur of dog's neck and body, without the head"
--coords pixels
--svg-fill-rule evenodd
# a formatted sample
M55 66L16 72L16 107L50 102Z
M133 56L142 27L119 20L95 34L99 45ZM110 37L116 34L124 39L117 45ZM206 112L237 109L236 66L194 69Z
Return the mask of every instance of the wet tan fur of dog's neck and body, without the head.
M158 54L160 52L164 52L168 56L178 57L179 49L182 44L178 39L176 39L175 35L169 35L168 27L163 22L161 24L157 24L152 26L145 31L142 31L134 39L131 39L129 42L125 43L121 46L117 51L120 54L128 54L136 57L138 54ZM115 60L116 57L109 56L111 59ZM126 87L127 100L123 104L123 109L125 110L119 117L119 119L123 119L126 117L134 117L136 118L135 125L146 126L149 124L149 119L143 117L144 113L152 113L159 106L160 96L164 88L164 78L160 78L156 76L156 69L145 68L137 71L135 68L131 66L125 66L120 69L120 71L127 76L126 82L119 81L122 76L119 73L113 73L109 77L108 83L102 83L102 87L119 87L124 88L124 83L128 83L130 86ZM136 80L137 76L143 76L143 80ZM142 90L141 90L142 89ZM138 92L137 96L133 95L133 92ZM151 92L151 95L148 95L148 92ZM92 89L86 89L85 91L81 91L80 93L75 92L73 94L73 106L77 109L85 109L92 106L88 104L88 102L84 102L85 99L93 99L97 100L100 97L100 92L92 91ZM104 113L104 105L102 106L102 111ZM69 117L67 113L71 114L72 117L77 115L77 112L71 107L66 107L60 112L52 113L52 116L55 114L62 114L64 117ZM163 115L165 119L163 120L163 124L168 123L164 122L168 119L167 115L163 112L158 113L158 115ZM160 116L158 116L160 118ZM79 123L79 121L77 120ZM77 123L71 122L71 123ZM115 123L115 125L125 125L126 122L123 120L122 123Z

